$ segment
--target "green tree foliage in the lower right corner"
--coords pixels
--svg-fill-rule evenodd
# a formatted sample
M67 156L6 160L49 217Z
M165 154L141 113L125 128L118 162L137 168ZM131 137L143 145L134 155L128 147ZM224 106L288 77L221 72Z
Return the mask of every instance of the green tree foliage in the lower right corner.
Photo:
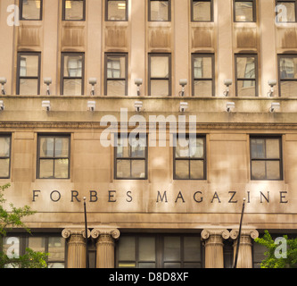
M264 253L266 258L261 262L261 268L289 268L297 265L297 239L289 240L287 235L284 235L285 245L277 244L272 239L270 233L265 231L262 238L255 241L267 248ZM279 254L281 248L281 255Z

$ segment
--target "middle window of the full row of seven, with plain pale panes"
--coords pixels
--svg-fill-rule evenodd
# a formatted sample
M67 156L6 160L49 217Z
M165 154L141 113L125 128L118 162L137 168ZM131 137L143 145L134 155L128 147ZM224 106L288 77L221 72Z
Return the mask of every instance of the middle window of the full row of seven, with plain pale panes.
M171 55L149 55L149 95L171 96Z

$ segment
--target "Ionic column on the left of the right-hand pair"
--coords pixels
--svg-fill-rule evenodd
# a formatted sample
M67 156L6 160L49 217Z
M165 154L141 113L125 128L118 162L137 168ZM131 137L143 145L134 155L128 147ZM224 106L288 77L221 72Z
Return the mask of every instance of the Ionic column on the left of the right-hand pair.
M229 238L227 230L203 230L202 240L205 240L205 268L224 268L223 239Z

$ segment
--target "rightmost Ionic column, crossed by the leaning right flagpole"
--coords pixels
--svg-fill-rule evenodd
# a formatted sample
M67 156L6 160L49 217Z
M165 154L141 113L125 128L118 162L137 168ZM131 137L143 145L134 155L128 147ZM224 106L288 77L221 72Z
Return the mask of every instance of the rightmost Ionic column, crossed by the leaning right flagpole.
M259 232L256 230L242 230L236 268L252 268L252 240L257 239ZM238 230L230 232L231 239L234 241L234 258L238 241Z

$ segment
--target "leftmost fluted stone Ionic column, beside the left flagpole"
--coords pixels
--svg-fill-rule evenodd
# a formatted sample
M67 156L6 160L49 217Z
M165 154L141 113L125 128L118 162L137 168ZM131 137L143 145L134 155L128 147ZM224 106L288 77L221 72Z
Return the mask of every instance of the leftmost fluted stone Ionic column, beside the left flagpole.
M90 231L87 230L87 237ZM86 231L83 229L65 229L62 237L67 240L67 267L86 268Z

